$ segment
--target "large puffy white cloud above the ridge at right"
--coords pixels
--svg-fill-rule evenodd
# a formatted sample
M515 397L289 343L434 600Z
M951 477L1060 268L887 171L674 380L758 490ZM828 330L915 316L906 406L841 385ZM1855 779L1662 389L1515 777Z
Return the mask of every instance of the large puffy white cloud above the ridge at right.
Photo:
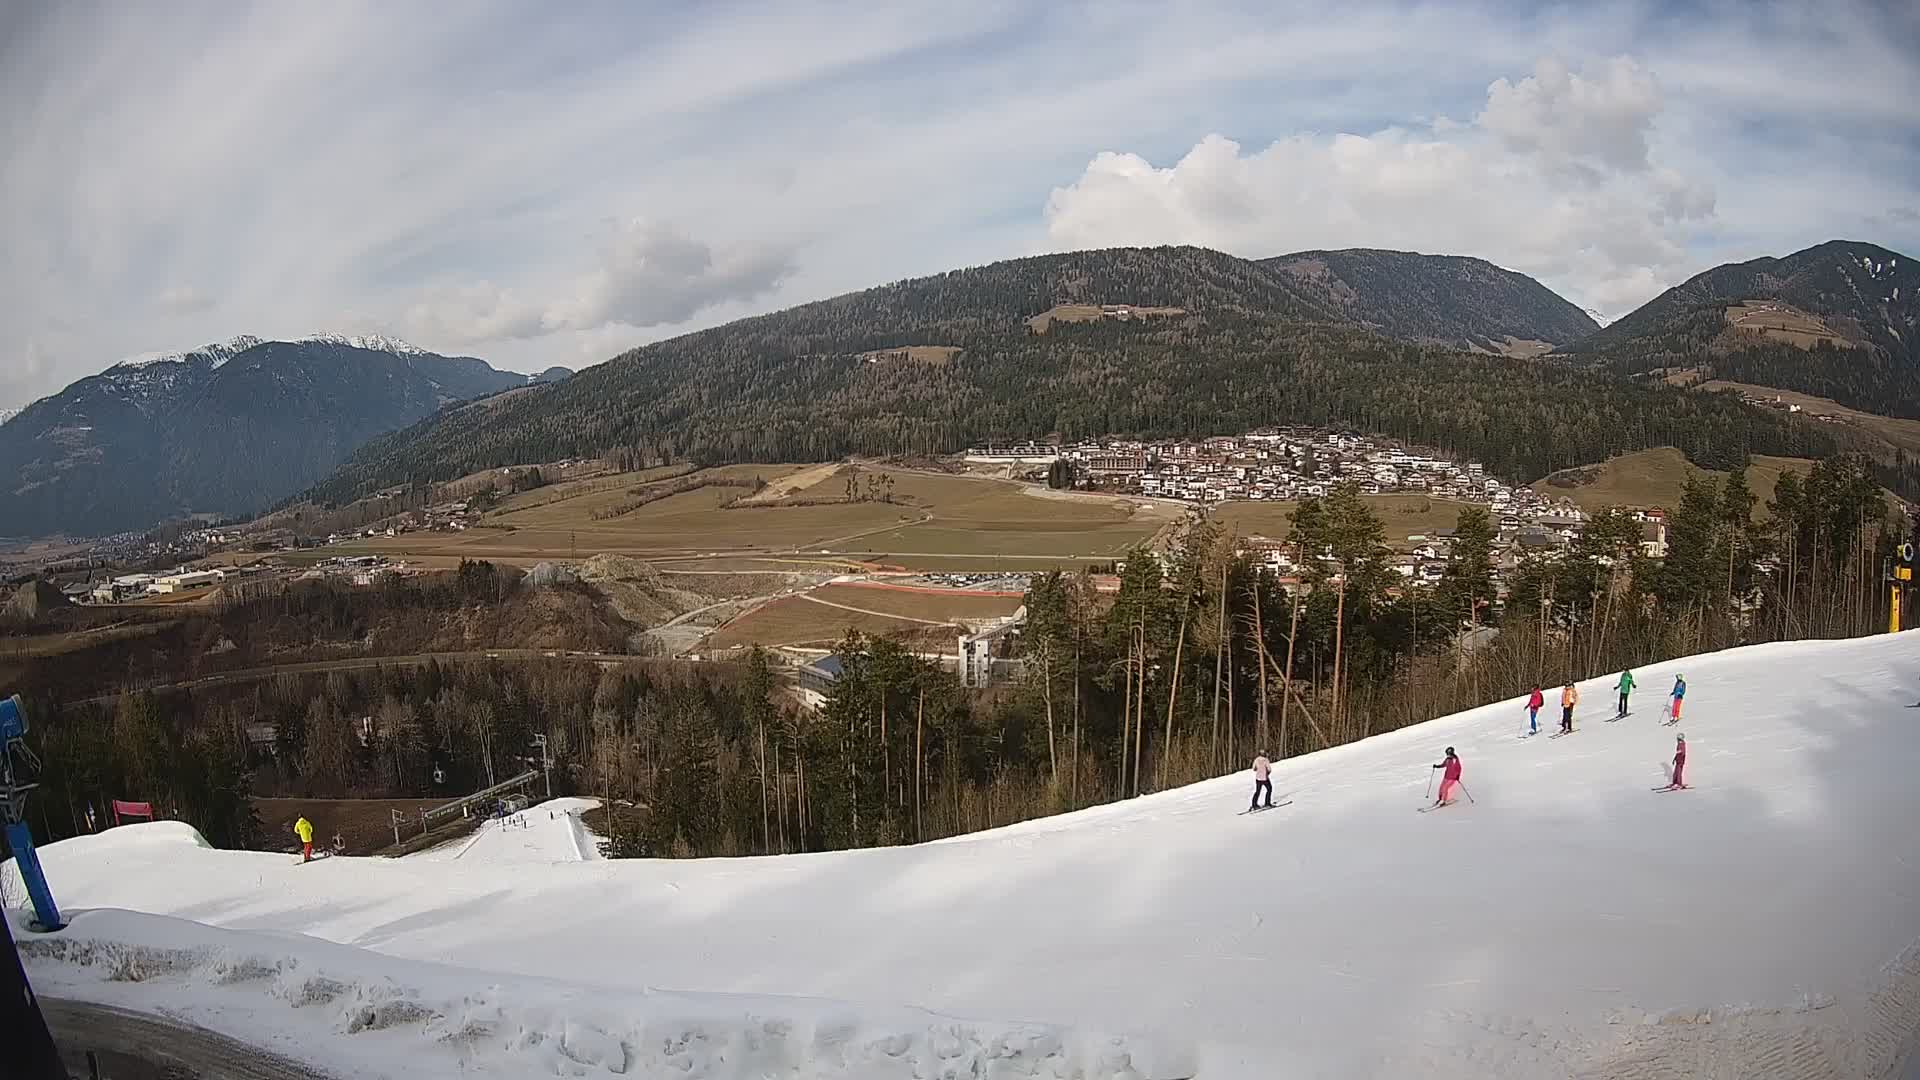
M1670 284L1688 231L1713 221L1711 184L1649 160L1657 100L1632 61L1586 75L1542 61L1494 81L1473 123L1296 135L1254 152L1210 135L1167 167L1108 152L1052 192L1048 236L1473 254L1615 311Z

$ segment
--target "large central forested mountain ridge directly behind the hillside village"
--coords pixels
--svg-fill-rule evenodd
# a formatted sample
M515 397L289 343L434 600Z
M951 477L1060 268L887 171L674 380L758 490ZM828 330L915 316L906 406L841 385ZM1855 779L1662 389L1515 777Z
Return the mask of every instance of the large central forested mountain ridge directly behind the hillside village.
M649 344L484 411L444 409L363 446L315 490L632 448L643 459L824 461L947 454L996 436L1187 436L1352 425L1532 479L1674 444L1701 463L1830 454L1824 432L1574 365L1390 340L1256 261L1200 248L1014 259ZM1181 307L1029 332L1054 304ZM939 363L891 346L954 346Z

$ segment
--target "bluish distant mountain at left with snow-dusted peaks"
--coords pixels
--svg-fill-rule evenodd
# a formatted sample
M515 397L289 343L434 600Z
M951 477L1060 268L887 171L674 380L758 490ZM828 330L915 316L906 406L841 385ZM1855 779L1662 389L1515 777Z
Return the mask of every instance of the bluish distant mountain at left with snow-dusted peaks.
M131 357L0 425L0 521L10 534L104 534L248 513L442 405L566 375L349 334Z

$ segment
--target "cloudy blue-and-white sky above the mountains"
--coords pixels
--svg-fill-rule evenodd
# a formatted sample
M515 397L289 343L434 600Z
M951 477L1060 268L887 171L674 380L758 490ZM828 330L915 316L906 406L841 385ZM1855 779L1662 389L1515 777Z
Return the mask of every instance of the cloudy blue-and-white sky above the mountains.
M1920 6L0 0L0 407L319 329L501 367L1046 250L1390 246L1607 315L1920 256Z

